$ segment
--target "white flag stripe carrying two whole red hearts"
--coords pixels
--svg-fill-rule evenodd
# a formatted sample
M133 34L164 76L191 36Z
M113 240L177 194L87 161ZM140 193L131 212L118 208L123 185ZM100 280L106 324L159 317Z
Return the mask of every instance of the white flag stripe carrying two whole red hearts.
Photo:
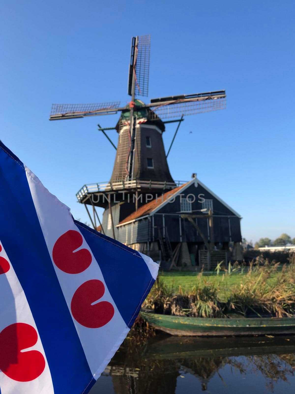
M54 195L44 188L40 180L28 168L25 167L25 169L37 216L39 218L48 251L52 258L53 246L60 236L69 230L77 231L79 234L81 234L81 232L73 222L72 215L70 214L70 208L61 203ZM83 244L78 248L78 250L84 248L90 251L92 255L87 242L83 238ZM114 316L111 321L100 328L84 327L72 316L89 368L94 378L98 379L105 369L105 366L111 360L114 353L129 332L129 327L127 327L120 315L120 312L107 289L100 267L93 255L90 266L81 273L68 274L57 268L54 262L53 266L70 313L71 301L77 288L79 288L79 286L84 282L92 279L100 280L105 286L105 292L99 301L109 301L114 307Z

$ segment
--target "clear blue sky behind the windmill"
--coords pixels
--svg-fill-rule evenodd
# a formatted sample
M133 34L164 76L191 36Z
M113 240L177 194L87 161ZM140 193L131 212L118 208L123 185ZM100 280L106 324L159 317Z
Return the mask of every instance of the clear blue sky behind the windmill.
M97 123L118 115L50 122L51 104L125 105L131 37L150 33L149 99L227 92L226 110L185 118L169 155L174 179L196 172L241 214L248 240L295 237L294 1L127 4L2 3L0 139L89 221L76 192L110 178L115 151Z

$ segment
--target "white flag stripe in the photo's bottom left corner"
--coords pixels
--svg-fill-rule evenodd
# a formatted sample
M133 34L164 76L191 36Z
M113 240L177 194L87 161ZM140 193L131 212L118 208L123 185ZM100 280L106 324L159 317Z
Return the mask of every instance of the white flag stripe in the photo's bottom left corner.
M11 265L9 256L7 256L1 242L0 258L2 258L2 266L5 259L7 263L4 263L6 267L9 267L9 270L7 270L7 272L0 274L0 345L1 340L3 340L3 333L5 332L3 330L6 329L6 327L15 325L16 323L25 323L26 325L30 325L31 327L33 327L33 329L37 332L38 340L37 343L30 348L22 349L21 353L30 350L37 350L43 355L45 359L45 368L41 375L28 382L13 380L11 379L11 377L8 377L6 374L4 374L4 372L0 371L1 394L53 394L54 390L52 386L50 370L47 364L46 355L44 353L39 333L31 313L30 306L24 294L24 290L22 289L22 286L18 281L17 275L15 274L15 271ZM15 333L15 329L12 329L12 333ZM14 364L15 362L19 361L19 359L17 359L16 357L17 354L15 352L15 349L11 349L11 353L15 353L15 355L13 356L13 360L11 360ZM3 355L0 354L0 362L1 356Z

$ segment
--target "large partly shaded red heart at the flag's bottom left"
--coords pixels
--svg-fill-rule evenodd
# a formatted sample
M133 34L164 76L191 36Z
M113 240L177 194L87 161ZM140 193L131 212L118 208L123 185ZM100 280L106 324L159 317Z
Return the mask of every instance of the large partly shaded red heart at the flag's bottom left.
M29 382L42 374L45 359L37 350L23 351L37 343L38 334L26 323L14 323L0 333L0 370L10 379Z

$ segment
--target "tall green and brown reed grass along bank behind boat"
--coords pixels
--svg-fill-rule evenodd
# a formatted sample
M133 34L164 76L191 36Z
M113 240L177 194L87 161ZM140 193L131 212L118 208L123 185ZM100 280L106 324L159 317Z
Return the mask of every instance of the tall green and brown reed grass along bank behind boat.
M175 289L173 284L167 286L158 277L143 306L156 313L175 316L295 316L294 264L284 264L280 270L279 263L260 258L250 263L247 273L238 262L227 270L219 264L217 270L218 275L223 270L219 281L206 281L201 271L189 289L182 286ZM230 288L224 287L223 282L229 283L229 277L237 271L240 281L236 280Z

